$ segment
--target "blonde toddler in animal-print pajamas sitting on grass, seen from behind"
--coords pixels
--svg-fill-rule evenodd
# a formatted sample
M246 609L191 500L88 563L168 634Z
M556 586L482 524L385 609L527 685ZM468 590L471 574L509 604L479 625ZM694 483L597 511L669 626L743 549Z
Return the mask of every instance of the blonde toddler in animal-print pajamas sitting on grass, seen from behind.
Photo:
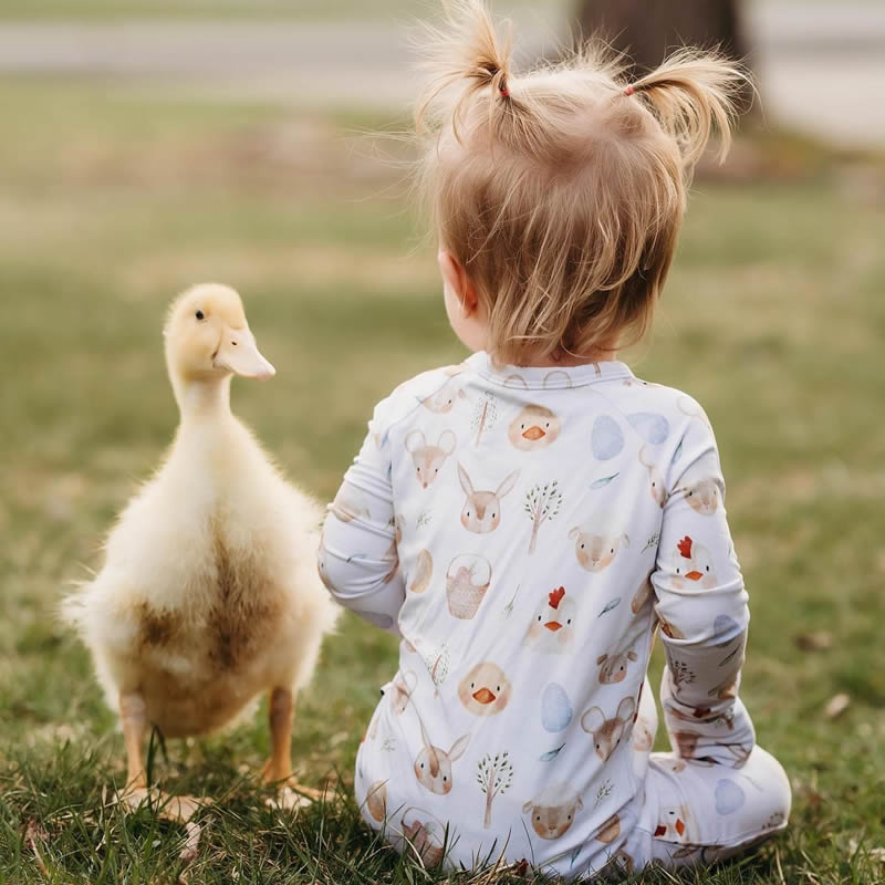
M514 76L478 0L431 42L423 184L473 355L376 407L325 523L326 585L400 638L357 802L428 865L712 863L782 830L790 787L738 697L749 613L709 421L616 352L742 75L683 51L632 83L591 53Z

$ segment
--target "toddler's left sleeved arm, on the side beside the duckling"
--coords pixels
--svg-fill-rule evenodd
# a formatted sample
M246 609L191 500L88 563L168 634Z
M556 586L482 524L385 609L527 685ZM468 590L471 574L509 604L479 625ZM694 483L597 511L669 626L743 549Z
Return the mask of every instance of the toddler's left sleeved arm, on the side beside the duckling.
M375 408L363 447L329 506L319 566L339 603L398 635L396 622L406 590L391 486L389 412L391 399Z

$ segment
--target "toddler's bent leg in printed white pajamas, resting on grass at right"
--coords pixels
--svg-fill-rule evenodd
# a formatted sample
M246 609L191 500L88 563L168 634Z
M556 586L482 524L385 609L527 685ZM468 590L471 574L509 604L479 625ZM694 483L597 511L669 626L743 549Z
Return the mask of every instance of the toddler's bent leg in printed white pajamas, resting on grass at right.
M783 830L789 813L787 774L761 747L740 768L653 753L627 853L636 870L711 864Z

